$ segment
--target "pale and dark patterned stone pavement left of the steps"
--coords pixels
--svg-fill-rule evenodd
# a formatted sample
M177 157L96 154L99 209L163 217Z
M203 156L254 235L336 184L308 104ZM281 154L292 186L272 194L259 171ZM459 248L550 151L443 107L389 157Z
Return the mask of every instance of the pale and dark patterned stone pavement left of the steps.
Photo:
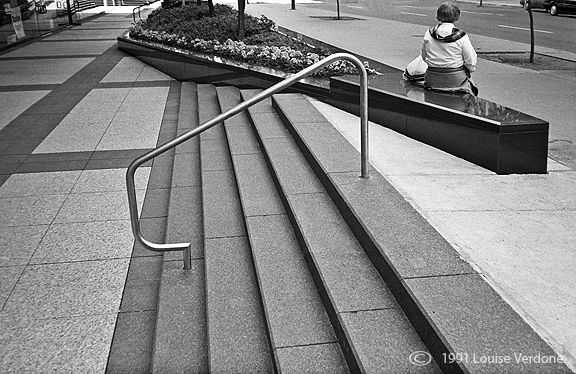
M125 173L175 82L117 49L132 7L109 11L0 54L2 373L103 373L119 312L155 315L123 295L154 260L133 247Z

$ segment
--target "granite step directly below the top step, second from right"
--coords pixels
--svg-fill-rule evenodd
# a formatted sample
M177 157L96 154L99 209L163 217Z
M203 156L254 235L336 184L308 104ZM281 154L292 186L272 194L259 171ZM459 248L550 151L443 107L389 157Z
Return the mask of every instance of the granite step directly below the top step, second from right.
M242 91L244 99L256 92ZM350 370L415 370L408 358L413 352L426 351L426 347L286 131L271 101L255 105L248 112ZM434 364L425 369L438 371Z

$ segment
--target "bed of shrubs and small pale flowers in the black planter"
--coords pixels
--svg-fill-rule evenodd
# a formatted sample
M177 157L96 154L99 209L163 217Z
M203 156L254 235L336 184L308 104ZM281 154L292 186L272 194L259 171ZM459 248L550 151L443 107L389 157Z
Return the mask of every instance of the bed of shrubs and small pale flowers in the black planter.
M300 71L330 55L325 48L277 32L274 22L265 16L245 15L244 41L238 40L237 30L238 13L231 6L216 4L210 17L205 4L190 4L155 10L146 20L132 26L130 37L288 72ZM357 74L356 67L348 61L334 62L317 73L345 74Z

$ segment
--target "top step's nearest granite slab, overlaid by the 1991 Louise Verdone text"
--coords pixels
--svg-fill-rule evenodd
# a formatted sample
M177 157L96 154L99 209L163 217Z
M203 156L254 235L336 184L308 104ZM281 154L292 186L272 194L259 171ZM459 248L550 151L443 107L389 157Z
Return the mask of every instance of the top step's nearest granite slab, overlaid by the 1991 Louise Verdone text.
M571 372L557 363L526 363L519 359L520 355L547 359L557 355L482 276L406 279L404 284L410 293L405 297L417 303L411 313L421 313L416 308L426 313L423 317L450 352L461 355L461 367L470 373ZM416 328L424 333L429 330L427 326ZM482 362L498 357L502 362Z

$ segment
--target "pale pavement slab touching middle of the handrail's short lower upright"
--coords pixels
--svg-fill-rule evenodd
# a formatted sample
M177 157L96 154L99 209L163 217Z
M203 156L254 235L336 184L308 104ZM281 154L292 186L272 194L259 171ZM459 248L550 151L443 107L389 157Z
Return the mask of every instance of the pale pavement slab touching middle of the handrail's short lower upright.
M142 209L143 190L136 191L138 210ZM94 222L130 219L126 191L70 194L55 223Z

